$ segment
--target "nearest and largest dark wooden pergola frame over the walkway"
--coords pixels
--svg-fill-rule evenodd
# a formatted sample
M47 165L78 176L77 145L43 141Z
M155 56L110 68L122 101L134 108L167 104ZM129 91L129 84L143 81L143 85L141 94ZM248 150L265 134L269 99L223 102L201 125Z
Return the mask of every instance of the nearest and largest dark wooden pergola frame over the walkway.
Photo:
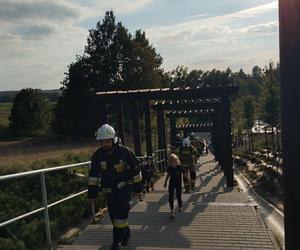
M160 103L160 105L156 105L156 107L153 108L157 112L158 148L165 149L165 152L167 152L165 110L168 109L166 106L181 106L183 111L186 111L189 108L189 110L191 110L191 114L194 113L194 115L197 112L199 112L199 115L201 112L203 112L203 114L209 113L210 115L216 113L214 120L214 123L218 124L216 125L218 131L216 135L219 137L218 140L222 141L222 151L218 151L222 152L222 155L220 154L218 160L224 169L224 173L227 178L227 185L233 186L230 96L237 92L238 86L233 85L197 88L138 89L128 91L98 92L95 94L95 101L98 103L99 109L102 113L102 123L107 121L106 105L113 104L114 106L117 106L117 129L118 134L124 143L125 132L123 103L131 103L131 117L133 121L133 137L136 155L142 154L138 105L142 105L145 113L146 148L148 155L152 154L152 131L150 117L151 101L159 101ZM204 111L204 109L207 110ZM206 129L208 129L208 127ZM211 129L211 127L209 129ZM218 148L218 146L216 147Z

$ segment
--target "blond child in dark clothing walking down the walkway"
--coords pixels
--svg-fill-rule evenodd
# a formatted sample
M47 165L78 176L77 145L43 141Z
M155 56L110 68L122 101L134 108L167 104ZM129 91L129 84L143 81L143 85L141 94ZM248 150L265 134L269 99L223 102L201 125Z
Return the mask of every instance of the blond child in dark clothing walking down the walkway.
M180 166L179 158L176 154L170 154L169 156L169 166L167 168L167 177L165 180L164 187L167 186L169 180L169 205L171 209L171 218L175 218L174 213L174 191L176 191L176 199L178 203L178 211L182 211L182 177L185 173L185 170Z

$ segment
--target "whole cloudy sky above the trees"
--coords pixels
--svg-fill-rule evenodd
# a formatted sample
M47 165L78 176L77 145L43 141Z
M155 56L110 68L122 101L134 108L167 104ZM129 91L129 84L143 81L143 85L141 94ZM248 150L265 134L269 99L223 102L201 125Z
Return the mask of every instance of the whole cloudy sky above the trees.
M0 91L60 88L89 29L113 10L146 32L165 71L251 73L279 61L278 0L0 0Z

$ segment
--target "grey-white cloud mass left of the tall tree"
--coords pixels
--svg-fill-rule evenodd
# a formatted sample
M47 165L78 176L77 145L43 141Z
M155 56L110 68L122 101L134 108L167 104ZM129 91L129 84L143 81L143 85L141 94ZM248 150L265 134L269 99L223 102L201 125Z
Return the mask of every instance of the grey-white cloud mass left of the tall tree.
M86 45L81 21L111 9L126 14L151 1L0 0L0 90L60 87Z

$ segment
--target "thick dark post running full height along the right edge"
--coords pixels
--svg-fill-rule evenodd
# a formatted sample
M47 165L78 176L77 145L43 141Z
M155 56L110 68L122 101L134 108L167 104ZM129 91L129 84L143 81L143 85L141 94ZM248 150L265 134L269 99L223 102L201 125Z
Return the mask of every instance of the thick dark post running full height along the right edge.
M300 246L300 1L279 0L285 247Z

